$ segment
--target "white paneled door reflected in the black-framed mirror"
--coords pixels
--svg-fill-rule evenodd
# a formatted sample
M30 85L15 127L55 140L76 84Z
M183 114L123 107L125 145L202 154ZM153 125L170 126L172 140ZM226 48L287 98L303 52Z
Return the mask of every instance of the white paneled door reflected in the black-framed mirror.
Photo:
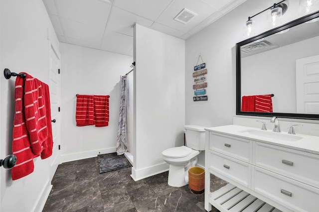
M319 55L296 60L297 113L319 114Z

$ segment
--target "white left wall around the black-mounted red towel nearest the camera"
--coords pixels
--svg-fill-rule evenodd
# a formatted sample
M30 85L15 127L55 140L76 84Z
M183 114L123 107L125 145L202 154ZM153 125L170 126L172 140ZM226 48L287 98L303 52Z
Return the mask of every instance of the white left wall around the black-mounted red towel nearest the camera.
M27 72L48 83L49 43L58 46L59 42L42 0L1 0L0 24L1 72L4 68ZM12 154L14 82L15 77L0 76L0 159ZM35 158L34 172L15 181L10 170L0 168L1 212L42 211L51 185L49 162L50 158Z

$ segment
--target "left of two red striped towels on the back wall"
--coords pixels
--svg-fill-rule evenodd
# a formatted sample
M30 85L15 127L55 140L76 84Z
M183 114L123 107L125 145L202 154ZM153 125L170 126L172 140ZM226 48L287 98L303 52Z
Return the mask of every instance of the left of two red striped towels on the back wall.
M94 96L77 95L75 120L77 126L87 126L94 124Z

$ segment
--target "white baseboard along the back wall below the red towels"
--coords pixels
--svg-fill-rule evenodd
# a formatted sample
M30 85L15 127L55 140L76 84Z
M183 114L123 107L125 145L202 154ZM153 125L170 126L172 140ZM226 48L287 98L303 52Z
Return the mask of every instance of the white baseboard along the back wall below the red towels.
M66 154L66 155L61 155L61 162L65 163L65 162L70 162L75 160L82 160L86 158L93 158L93 157L96 157L99 153L108 154L113 152L116 152L116 147Z

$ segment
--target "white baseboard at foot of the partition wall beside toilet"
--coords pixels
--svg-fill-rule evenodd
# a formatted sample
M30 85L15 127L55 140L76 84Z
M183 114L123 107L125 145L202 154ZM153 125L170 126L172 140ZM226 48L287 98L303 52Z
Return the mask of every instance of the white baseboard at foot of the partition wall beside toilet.
M139 170L136 170L135 167L132 167L131 177L133 178L133 180L139 181L144 178L166 172L168 171L168 169L169 169L168 163L161 163L161 164L157 164L157 165L146 167Z

